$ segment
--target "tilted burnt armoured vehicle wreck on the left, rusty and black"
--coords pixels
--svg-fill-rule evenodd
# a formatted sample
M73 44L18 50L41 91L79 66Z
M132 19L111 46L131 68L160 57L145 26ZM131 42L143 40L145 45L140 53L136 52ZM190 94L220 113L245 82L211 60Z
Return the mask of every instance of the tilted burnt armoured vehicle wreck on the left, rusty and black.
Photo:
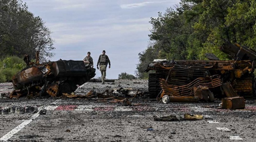
M27 63L27 67L12 77L14 91L10 98L49 94L52 97L74 92L95 76L95 68L85 67L83 61L59 60L41 64Z

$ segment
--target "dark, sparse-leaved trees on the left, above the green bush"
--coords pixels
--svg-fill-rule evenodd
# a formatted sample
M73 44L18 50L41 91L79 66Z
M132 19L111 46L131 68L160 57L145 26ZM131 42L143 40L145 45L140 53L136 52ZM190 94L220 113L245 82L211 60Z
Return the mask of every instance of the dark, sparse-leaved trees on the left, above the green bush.
M0 0L0 57L30 54L33 59L37 50L42 62L52 57L54 41L44 24L21 0Z

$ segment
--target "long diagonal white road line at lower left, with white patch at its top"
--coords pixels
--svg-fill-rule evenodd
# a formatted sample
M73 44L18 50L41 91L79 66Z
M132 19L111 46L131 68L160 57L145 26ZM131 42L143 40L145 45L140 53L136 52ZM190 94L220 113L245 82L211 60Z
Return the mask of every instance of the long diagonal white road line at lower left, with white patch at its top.
M47 106L44 109L46 110L54 110L56 109L58 106ZM0 141L7 141L8 139L10 139L14 134L18 133L21 129L23 129L25 126L27 126L30 122L32 122L33 120L35 120L37 117L39 116L39 112L37 112L36 114L34 114L33 116L30 117L29 120L25 120L23 121L20 125L18 125L17 127L15 127L14 129L12 129L10 132L8 132L7 134L5 134L2 138L0 138Z

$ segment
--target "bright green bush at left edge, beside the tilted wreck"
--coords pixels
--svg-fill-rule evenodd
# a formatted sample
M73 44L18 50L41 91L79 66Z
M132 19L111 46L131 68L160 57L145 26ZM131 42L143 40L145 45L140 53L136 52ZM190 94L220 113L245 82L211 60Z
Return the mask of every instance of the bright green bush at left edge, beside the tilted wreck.
M17 56L0 59L0 82L10 81L13 75L25 67L23 59Z

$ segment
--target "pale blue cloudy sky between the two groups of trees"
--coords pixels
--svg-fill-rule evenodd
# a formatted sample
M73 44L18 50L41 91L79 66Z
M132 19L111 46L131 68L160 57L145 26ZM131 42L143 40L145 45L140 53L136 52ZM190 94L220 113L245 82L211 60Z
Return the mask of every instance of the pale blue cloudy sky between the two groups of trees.
M94 68L102 50L111 61L107 79L134 74L138 53L147 48L157 17L179 0L23 0L29 11L40 16L53 33L56 55L51 61L83 60L91 52ZM101 76L96 71L96 76Z

